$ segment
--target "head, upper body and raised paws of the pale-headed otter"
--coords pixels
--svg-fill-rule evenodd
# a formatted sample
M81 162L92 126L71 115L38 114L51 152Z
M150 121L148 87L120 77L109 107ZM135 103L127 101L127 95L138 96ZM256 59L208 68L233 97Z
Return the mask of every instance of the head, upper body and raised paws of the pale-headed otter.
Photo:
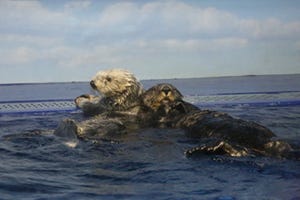
M76 106L89 116L106 111L137 112L144 91L135 76L124 69L99 71L90 86L103 97L84 94L75 99Z

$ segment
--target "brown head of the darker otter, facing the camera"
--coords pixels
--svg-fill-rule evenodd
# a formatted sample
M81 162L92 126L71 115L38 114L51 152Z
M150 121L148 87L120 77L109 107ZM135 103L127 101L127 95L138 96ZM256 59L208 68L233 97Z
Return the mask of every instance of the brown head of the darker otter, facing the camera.
M142 98L146 106L157 111L162 106L168 107L174 101L182 100L183 96L173 85L161 83L148 89Z

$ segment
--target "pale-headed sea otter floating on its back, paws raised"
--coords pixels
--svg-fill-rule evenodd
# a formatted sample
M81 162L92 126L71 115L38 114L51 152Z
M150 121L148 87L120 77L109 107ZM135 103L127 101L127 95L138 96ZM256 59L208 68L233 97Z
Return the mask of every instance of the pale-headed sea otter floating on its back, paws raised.
M82 122L64 119L54 134L63 137L76 135L81 139L103 139L149 126L152 112L143 105L142 84L123 69L100 71L90 86L103 96L81 95L75 99L77 107L90 116Z

